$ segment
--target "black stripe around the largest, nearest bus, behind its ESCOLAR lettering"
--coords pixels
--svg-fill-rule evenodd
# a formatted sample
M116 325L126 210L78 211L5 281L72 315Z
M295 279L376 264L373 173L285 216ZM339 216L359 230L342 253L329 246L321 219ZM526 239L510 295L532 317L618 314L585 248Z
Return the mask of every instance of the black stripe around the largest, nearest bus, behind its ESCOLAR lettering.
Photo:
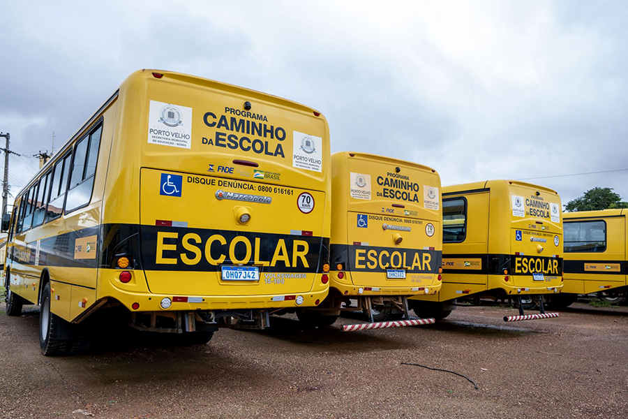
M160 253L163 258L176 259L177 263L157 263L157 241L158 233L174 233L177 240L166 238L163 240L165 247ZM186 251L181 241L188 233L195 233L200 237L200 242L190 242L194 244L201 253L198 263L188 265L181 260L181 254L186 254L188 258L193 258L194 253ZM75 259L76 240L95 235L98 248L94 254L94 259ZM81 230L74 230L62 233L53 237L46 237L40 240L39 266L59 266L59 267L116 267L117 259L127 256L130 259L128 269L134 270L161 270L161 271L198 271L216 272L220 270L220 265L212 265L205 257L205 243L209 237L220 235L225 242L230 243L236 237L246 237L251 243L251 261L248 265L253 265L253 257L257 254L260 260L272 260L276 249L278 259L287 258L288 264L277 263L274 267L261 267L262 272L301 272L320 273L322 265L329 262L329 237L287 235L274 233L255 233L234 230L212 230L207 228L186 228L167 226L140 226L138 224L110 223ZM255 239L258 239L257 241ZM297 242L299 240L299 242ZM256 242L259 242L257 252ZM307 243L308 252L303 256L308 267L305 267L303 258L294 257L295 253L304 251L304 243ZM29 244L14 244L10 249L9 259L15 263L24 265L35 265L37 242ZM169 246L175 245L176 249L171 250ZM297 249L294 249L297 246ZM296 252L293 252L293 249ZM230 264L228 246L214 242L210 249L211 254L218 258L225 255L224 264ZM246 244L237 244L234 247L234 257L243 260L246 255ZM280 261L281 262L281 261ZM296 262L296 266L292 263Z

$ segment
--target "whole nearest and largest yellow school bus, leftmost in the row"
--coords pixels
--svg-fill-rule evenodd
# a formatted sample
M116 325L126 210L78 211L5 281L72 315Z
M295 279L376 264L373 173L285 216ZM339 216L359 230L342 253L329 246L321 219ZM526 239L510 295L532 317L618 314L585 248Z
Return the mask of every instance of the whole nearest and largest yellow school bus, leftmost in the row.
M330 167L312 108L137 71L17 194L7 313L40 304L53 355L115 307L139 330L206 342L218 325L315 306L329 291Z

